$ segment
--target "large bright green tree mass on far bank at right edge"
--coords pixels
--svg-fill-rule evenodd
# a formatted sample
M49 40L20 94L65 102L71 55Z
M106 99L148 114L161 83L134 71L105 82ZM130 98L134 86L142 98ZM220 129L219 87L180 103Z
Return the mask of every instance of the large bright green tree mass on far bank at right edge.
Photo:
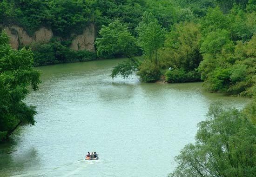
M252 96L256 84L255 18L255 12L234 6L227 15L211 9L202 20L203 61L198 71L207 90Z

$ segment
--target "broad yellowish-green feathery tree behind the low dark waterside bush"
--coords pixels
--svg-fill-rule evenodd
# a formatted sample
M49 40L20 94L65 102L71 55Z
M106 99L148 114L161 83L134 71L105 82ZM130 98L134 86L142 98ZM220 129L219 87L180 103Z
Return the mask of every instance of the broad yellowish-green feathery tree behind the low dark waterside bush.
M185 71L195 70L202 60L199 53L200 39L200 29L195 23L175 24L160 50L161 65L167 68L183 68Z

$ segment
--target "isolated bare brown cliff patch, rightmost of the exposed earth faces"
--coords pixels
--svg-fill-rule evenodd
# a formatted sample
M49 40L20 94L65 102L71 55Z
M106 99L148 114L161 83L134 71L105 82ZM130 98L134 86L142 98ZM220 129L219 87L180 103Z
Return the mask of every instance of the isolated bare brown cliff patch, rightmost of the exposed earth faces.
M85 30L81 35L76 36L72 40L70 48L76 51L88 50L90 52L95 52L94 39L95 39L95 28L93 24L90 24L85 28Z

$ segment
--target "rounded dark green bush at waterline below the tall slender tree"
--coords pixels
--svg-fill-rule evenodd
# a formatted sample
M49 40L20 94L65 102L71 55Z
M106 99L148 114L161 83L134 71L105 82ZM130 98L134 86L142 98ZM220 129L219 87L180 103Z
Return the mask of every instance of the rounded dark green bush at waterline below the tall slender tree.
M145 62L139 67L137 75L143 82L155 82L161 78L162 73L159 66Z

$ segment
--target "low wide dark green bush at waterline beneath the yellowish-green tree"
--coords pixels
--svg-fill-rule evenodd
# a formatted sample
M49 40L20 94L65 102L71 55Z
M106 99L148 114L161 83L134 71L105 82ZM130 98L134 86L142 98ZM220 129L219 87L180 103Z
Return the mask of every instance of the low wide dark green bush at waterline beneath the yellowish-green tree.
M165 79L170 83L200 81L200 74L195 71L186 72L184 69L172 69L165 73Z

